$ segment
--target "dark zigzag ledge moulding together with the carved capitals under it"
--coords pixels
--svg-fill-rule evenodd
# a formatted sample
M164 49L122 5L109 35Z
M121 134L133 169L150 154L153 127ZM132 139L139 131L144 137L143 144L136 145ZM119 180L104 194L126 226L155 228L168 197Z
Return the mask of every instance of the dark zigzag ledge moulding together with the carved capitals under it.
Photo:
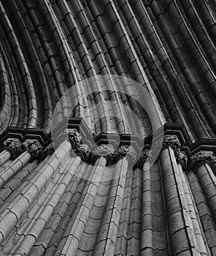
M198 156L198 151L212 151L211 154L216 152L215 139L200 139L192 141L187 131L182 124L167 123L164 125L164 136L162 147L171 146L174 149L177 162L187 169L187 161L185 157L190 159L188 170L191 170L191 162L194 162L193 155ZM82 118L71 118L69 120L66 130L61 129L61 124L54 130L55 137L58 138L58 143L61 143L66 138L69 139L72 149L75 154L80 155L85 162L93 164L95 160L101 155L107 158L107 165L111 165L124 156L130 156L129 162L136 163L135 167L142 167L144 161L147 159L146 151L150 150L152 143L152 136L148 136L141 140L139 135L117 135L101 133L100 135L92 135L85 121ZM53 154L55 141L53 142L52 135L47 134L43 129L24 129L22 127L8 127L7 131L0 135L1 151L8 148L12 151L12 159L20 154L19 143L24 143L25 146L20 146L23 149L29 150L29 143L26 145L26 140L36 140L38 144L31 146L34 150L31 151L32 158L41 157L45 158L49 154ZM121 148L125 146L125 149ZM133 150L131 148L134 148ZM134 153L132 153L134 151ZM104 153L102 153L104 152ZM135 154L140 152L140 154ZM143 153L142 153L143 152ZM141 154L142 153L142 154ZM210 154L210 153L209 153ZM140 155L140 157L139 157ZM185 157L184 157L184 156ZM198 159L201 159L199 154ZM136 157L139 158L137 161Z

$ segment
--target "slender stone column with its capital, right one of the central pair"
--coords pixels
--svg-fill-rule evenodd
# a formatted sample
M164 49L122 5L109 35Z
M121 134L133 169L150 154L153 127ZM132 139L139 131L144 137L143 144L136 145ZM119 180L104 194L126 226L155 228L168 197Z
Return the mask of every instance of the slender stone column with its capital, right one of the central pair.
M113 176L114 179L112 180L105 214L101 222L99 236L93 250L93 255L115 255L115 244L120 222L120 213L123 206L128 161L135 159L136 152L131 146L121 146L114 154L109 155L109 164L116 163Z

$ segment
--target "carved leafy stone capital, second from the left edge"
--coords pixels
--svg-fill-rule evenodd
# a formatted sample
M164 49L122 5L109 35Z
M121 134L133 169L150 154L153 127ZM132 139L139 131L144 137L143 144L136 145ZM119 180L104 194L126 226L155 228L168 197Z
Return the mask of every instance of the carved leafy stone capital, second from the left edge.
M31 160L39 158L42 153L42 146L38 140L26 140L21 148L23 151L28 151L31 154Z

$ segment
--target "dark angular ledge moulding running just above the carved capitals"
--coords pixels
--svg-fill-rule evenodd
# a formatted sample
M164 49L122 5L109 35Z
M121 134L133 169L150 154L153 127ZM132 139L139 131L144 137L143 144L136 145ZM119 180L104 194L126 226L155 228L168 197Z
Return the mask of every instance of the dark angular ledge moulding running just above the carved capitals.
M52 135L51 133L47 134L44 129L8 127L0 135L0 152L3 150L2 144L4 143L4 140L7 140L8 138L16 138L19 139L20 142L24 142L28 139L38 140L42 147L45 148L52 143L52 138L57 138L58 135L61 135L65 128L77 129L77 132L79 132L82 137L82 143L86 143L92 151L104 144L112 145L114 148L117 148L118 146L133 146L135 150L144 151L150 148L153 140L152 135L147 136L144 140L142 140L139 135L131 134L119 135L116 133L101 133L96 136L90 132L90 129L88 129L82 118L70 118L55 127ZM158 136L161 135L160 132L161 131L158 131ZM155 132L155 135L157 136L157 131ZM188 158L198 151L212 151L216 154L216 138L201 138L192 141L182 124L164 124L163 135L176 135L178 140L180 140L180 151L184 151Z

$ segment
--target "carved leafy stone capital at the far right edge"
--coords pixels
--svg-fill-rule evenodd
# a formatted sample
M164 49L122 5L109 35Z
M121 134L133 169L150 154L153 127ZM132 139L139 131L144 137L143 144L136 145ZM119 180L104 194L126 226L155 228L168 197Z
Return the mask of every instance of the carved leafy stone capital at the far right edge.
M216 162L215 155L212 151L198 151L192 157L190 157L188 162L188 170L195 170L204 163L209 163L212 165Z

